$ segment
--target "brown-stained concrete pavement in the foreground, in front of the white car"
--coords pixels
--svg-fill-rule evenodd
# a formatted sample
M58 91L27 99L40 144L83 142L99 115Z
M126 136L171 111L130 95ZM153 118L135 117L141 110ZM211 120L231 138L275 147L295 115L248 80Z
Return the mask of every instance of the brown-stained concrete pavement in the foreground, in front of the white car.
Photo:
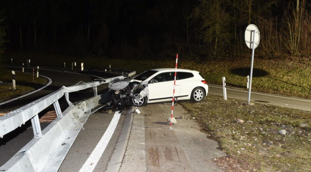
M127 113L107 172L222 171L213 159L227 154L200 131L181 105L174 107L177 124L172 129L166 124L170 104L147 104L138 109L140 114L134 110ZM185 118L178 118L181 115Z

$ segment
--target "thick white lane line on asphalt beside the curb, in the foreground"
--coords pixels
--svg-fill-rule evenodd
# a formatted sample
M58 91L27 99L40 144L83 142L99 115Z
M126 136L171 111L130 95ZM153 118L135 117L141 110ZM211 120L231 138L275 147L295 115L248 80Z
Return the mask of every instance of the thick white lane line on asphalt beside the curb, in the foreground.
M97 162L99 161L101 155L104 153L110 138L112 134L115 132L115 128L119 122L121 113L120 111L115 112L115 115L113 116L107 130L105 131L105 134L103 137L99 140L98 144L96 145L93 152L89 155L89 158L85 161L82 168L79 172L85 172L85 171L93 171Z

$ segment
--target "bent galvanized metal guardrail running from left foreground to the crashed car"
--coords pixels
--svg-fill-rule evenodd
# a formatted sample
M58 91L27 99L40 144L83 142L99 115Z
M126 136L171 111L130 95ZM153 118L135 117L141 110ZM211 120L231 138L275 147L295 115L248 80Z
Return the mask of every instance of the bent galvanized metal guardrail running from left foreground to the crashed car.
M61 89L0 117L1 138L31 120L34 138L16 153L0 171L57 171L89 115L109 100L108 93L97 95L97 86L135 74L96 80ZM77 104L69 101L69 93L94 89L94 97ZM62 112L58 100L65 95L69 107ZM38 113L53 104L57 118L41 131Z

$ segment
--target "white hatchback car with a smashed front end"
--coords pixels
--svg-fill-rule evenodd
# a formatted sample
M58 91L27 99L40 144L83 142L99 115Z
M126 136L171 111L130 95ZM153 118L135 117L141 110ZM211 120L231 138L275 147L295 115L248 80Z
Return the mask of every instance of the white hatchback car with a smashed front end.
M134 106L143 106L146 103L171 101L173 98L175 68L160 68L145 71L135 78L124 79L110 83L109 88L118 90L115 94L123 91L126 97L126 87L133 93L129 102ZM134 83L135 87L140 85L140 89L128 85ZM139 84L138 84L139 83ZM145 89L144 89L145 88ZM145 90L142 94L142 90ZM175 95L177 100L191 99L194 102L201 102L208 93L208 85L198 71L177 69ZM120 103L119 103L120 104Z

